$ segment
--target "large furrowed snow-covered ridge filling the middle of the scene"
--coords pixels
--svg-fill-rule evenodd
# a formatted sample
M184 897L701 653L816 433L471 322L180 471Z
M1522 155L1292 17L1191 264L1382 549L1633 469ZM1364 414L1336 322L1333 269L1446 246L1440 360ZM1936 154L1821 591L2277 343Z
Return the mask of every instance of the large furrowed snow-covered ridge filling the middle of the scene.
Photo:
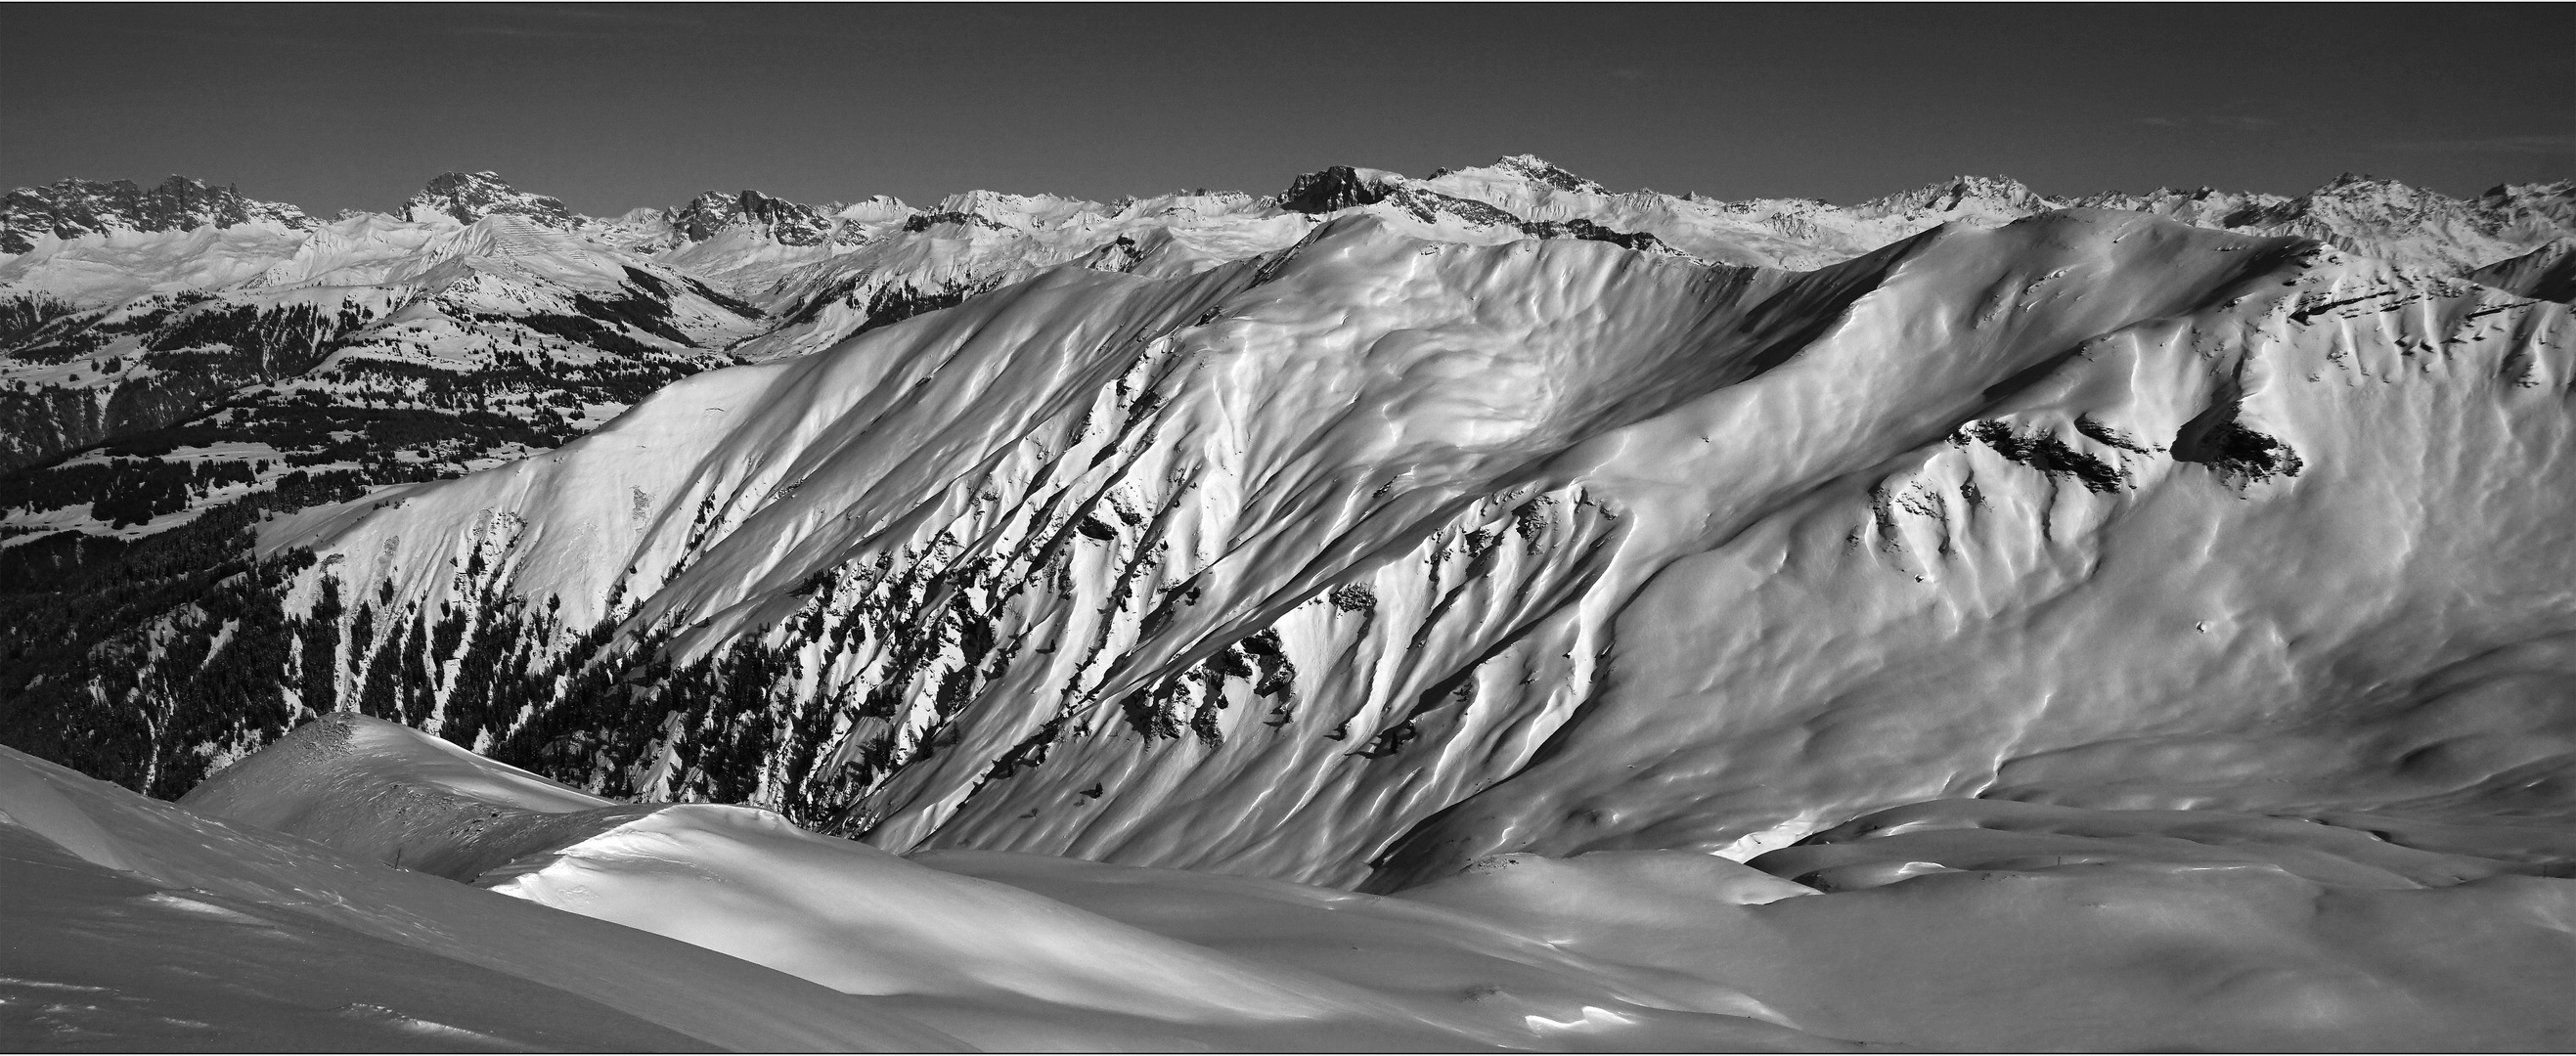
M1345 219L265 538L389 600L348 667L538 628L518 713L425 654L428 729L891 850L1394 891L1976 793L2563 822L2566 327L2115 211L1803 276Z

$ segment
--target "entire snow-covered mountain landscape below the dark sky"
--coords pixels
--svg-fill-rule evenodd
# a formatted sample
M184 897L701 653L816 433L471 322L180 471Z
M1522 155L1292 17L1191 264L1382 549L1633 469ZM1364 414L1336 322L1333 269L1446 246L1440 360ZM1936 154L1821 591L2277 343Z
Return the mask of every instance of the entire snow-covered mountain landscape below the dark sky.
M0 203L28 1048L2558 1048L2576 183Z

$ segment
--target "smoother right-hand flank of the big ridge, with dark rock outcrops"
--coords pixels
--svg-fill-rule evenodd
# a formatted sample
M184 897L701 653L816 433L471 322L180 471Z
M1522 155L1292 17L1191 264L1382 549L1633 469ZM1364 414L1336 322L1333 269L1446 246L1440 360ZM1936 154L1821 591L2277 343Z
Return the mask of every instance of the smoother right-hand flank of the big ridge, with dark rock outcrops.
M2530 783L2576 762L2566 312L2321 258L2159 314L2066 332L1968 412L2081 446L2117 487L2014 466L1981 430L1816 476L1659 569L1600 713L1417 829L1394 876L1759 850L1971 793L2563 824ZM1780 829L1744 842L1754 819Z

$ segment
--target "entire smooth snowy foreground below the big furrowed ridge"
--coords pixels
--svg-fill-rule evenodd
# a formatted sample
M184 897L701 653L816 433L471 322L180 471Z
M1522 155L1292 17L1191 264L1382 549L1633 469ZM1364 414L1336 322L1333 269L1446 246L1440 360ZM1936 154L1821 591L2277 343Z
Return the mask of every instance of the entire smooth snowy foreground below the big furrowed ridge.
M1801 847L1785 868L1880 873L1832 894L1646 850L1507 855L1370 896L907 860L744 806L595 801L361 716L178 806L0 750L0 1017L39 1048L2548 1048L2576 1030L2571 881L2223 811L1932 804Z

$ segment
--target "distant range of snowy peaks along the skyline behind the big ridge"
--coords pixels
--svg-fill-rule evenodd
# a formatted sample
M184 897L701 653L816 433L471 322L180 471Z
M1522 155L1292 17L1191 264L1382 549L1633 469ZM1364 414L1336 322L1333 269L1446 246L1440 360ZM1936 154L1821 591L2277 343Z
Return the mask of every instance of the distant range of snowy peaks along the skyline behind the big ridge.
M13 255L0 258L0 466L175 428L214 404L232 407L229 420L291 430L273 422L276 407L314 399L379 410L355 433L422 440L361 440L379 456L479 466L559 443L706 366L827 348L1074 260L1149 276L1200 270L1293 245L1345 211L1445 240L1587 237L1705 263L1819 268L1935 224L2123 209L2313 237L2470 278L2488 268L2486 281L2558 291L2576 229L2568 201L2566 183L2476 201L2365 178L2298 198L2208 188L2045 198L2014 180L1958 178L1860 206L1728 203L1610 193L1543 160L1507 157L1422 180L1334 167L1267 198L966 193L912 209L891 198L801 206L742 191L616 219L580 216L492 173L448 173L389 214L325 224L185 178L149 191L62 180L10 191L0 206L0 250ZM515 381L497 381L505 376ZM554 440L469 425L461 404L518 407L518 420L544 422ZM448 433L443 443L425 443L417 422L430 420L433 433ZM353 451L348 438L340 448ZM330 464L355 469L353 458Z

